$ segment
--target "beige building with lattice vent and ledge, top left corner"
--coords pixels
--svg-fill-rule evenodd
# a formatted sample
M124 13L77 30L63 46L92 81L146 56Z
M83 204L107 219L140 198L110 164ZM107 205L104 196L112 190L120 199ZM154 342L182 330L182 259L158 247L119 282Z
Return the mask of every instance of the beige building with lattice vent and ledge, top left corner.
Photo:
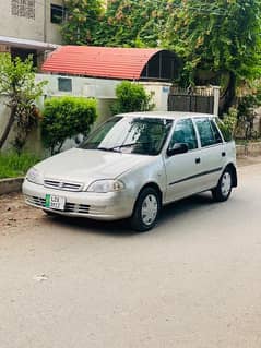
M40 67L46 51L61 44L62 0L2 0L0 13L0 52L22 59L33 55Z

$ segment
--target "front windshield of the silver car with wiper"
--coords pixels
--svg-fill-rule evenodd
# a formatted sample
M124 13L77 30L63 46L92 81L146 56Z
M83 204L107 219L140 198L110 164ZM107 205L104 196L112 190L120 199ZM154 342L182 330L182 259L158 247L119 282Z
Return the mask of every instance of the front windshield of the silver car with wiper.
M80 147L155 156L159 154L171 124L171 120L159 118L114 117Z

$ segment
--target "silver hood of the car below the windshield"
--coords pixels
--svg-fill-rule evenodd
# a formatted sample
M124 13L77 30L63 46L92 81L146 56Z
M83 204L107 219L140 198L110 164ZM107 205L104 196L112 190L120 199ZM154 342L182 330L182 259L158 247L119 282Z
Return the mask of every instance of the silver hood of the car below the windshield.
M152 156L72 148L43 160L35 168L44 178L90 183L93 180L115 179L151 160Z

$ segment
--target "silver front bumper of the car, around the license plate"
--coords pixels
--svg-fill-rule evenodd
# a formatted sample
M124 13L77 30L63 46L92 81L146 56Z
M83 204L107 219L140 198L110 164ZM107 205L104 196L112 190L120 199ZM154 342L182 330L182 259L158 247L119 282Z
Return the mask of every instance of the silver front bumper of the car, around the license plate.
M98 220L116 220L131 216L134 197L128 192L70 192L49 189L26 179L23 183L25 202L34 207L66 216L79 216ZM66 197L64 211L45 207L46 194Z

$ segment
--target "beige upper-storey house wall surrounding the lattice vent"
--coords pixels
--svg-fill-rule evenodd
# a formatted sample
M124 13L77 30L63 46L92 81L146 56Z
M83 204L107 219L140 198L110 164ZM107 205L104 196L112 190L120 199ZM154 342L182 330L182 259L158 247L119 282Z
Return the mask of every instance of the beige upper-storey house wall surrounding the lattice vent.
M21 2L21 0L19 0ZM27 2L27 0L25 0ZM12 0L0 1L0 35L28 40L60 44L60 26L50 22L50 3L62 4L62 0L35 0L35 17L12 14Z

